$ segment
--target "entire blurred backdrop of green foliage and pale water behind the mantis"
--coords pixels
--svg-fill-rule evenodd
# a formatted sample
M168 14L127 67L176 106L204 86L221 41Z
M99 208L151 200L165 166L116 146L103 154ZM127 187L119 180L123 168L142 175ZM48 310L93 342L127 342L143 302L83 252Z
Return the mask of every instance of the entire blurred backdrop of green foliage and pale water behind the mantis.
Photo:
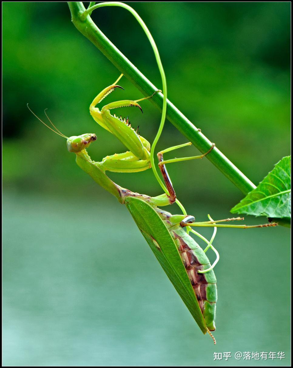
M257 184L290 152L290 3L131 6L156 40L169 99ZM92 18L160 88L151 47L132 16L103 8ZM96 133L89 153L101 160L125 148L88 108L118 75L72 25L66 3L3 3L3 365L290 365L288 229L218 230L214 347L126 208L26 107L41 118L48 108L65 135ZM121 85L125 91L107 102L142 97L127 79ZM118 113L152 141L160 114L149 101L142 107L143 115ZM158 150L185 141L167 121ZM170 166L178 197L198 220L228 217L242 193L199 161ZM161 192L151 170L111 178L133 191ZM286 358L214 361L214 352L228 351L284 351Z

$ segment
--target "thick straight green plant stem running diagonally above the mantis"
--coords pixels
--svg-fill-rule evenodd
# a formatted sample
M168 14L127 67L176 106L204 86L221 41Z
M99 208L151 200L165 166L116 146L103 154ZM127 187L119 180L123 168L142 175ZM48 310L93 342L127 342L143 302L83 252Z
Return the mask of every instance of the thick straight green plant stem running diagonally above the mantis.
M117 49L117 47L100 31L90 16L85 19L85 7L81 1L69 1L72 22L75 27L88 38L117 69L128 78L144 96L151 95L156 88L144 75ZM150 100L160 111L163 97L156 93ZM189 139L200 152L207 152L212 142L205 137L169 100L167 100L167 119ZM247 194L256 186L215 147L207 156L237 188Z

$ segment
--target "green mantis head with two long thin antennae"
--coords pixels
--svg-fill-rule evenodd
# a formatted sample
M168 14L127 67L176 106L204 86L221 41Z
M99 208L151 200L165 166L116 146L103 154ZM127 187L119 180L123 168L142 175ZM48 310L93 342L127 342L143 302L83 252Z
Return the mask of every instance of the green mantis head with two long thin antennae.
M28 105L27 105L28 106ZM35 117L40 120L41 123L43 123L44 125L46 125L47 128L49 128L51 131L53 131L54 133L60 135L63 138L67 139L67 149L69 152L81 152L83 149L87 148L93 141L96 141L97 136L96 134L93 133L86 133L86 134L82 134L82 135L72 135L72 137L66 137L66 135L62 134L60 132L60 130L58 130L56 128L56 126L51 122L49 116L46 113L46 110L44 110L44 113L47 117L47 119L50 121L52 127L49 127L49 125L47 125L46 123L43 122L43 120L41 120L38 116L36 116L36 114L29 108L28 109L31 111L31 113L33 115L35 115Z

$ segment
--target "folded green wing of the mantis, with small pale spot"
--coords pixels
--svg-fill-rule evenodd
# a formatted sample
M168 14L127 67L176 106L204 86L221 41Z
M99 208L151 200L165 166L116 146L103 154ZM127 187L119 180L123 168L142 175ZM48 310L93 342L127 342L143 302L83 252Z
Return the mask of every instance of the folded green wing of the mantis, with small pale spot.
M146 202L128 197L125 205L169 280L189 309L201 331L207 332L199 303L176 244L158 213Z

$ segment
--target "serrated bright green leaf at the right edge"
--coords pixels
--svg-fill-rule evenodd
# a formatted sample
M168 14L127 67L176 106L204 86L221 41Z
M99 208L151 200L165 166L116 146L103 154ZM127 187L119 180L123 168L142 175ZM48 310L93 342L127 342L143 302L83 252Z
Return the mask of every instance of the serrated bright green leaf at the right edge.
M231 212L291 219L291 156L276 163L264 180Z

